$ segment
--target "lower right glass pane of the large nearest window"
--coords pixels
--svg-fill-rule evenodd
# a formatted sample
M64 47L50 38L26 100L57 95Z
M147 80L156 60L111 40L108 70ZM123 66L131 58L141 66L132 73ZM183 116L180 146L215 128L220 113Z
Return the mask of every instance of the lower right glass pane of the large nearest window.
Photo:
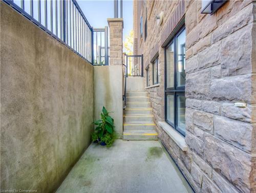
M185 96L178 96L178 117L177 125L183 131L185 131Z

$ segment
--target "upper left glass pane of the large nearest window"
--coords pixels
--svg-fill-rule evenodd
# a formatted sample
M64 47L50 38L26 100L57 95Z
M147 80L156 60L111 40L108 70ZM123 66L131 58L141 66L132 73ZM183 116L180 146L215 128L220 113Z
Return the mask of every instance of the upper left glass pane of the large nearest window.
M166 87L174 87L174 43L166 49Z

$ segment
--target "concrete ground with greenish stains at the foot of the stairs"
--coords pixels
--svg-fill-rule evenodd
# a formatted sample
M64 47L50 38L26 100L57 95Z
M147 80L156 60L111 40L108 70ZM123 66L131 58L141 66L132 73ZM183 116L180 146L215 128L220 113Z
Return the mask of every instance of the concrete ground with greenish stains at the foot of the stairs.
M116 140L110 148L91 144L56 192L193 191L158 141Z

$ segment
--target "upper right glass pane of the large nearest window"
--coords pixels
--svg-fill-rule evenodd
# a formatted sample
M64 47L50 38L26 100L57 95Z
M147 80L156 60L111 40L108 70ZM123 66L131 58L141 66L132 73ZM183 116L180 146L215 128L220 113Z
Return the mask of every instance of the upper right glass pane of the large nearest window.
M185 30L177 37L177 86L185 86Z

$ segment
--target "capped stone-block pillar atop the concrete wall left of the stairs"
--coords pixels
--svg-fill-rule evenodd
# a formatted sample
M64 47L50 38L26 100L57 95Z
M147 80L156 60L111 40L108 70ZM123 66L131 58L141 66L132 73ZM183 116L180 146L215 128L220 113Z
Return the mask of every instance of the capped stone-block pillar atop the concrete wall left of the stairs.
M108 18L110 27L110 65L122 65L123 19Z

